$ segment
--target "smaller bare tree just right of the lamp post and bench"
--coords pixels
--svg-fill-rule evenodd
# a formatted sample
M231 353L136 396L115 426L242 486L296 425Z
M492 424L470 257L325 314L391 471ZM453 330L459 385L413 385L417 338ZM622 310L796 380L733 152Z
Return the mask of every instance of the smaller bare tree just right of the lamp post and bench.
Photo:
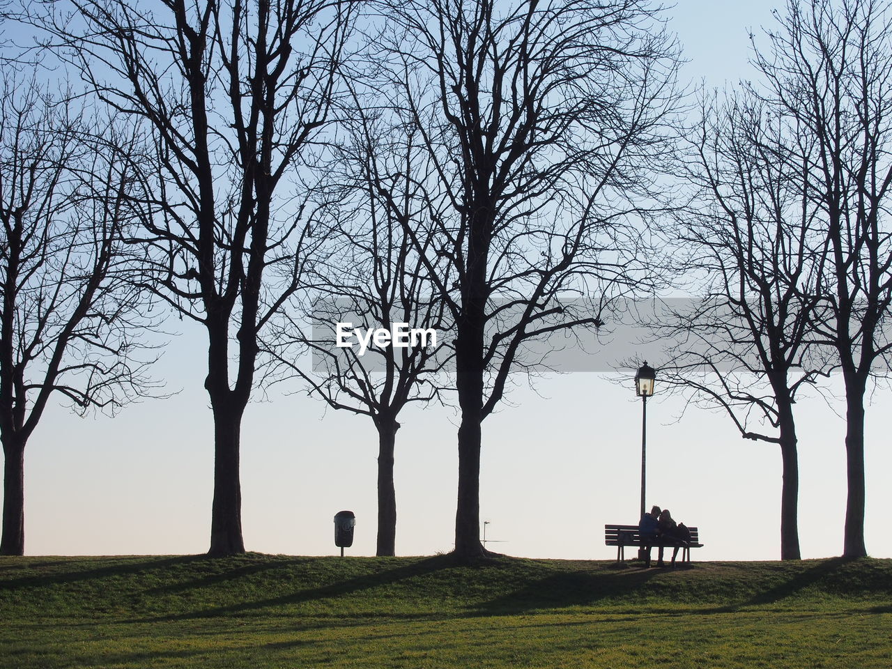
M657 319L659 339L673 343L660 376L726 411L743 438L780 446L780 558L799 559L794 405L829 369L803 291L814 280L814 211L785 169L786 128L751 91L705 104L695 130L681 175L695 191L667 233L673 271L703 292Z

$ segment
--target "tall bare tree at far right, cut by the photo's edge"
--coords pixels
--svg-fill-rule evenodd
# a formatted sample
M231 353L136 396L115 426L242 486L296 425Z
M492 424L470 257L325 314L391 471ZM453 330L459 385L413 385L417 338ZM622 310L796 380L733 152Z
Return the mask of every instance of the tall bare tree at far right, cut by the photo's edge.
M783 164L819 224L813 327L846 388L844 555L864 546L864 394L892 343L892 12L877 0L789 0L757 53L762 102L795 141Z

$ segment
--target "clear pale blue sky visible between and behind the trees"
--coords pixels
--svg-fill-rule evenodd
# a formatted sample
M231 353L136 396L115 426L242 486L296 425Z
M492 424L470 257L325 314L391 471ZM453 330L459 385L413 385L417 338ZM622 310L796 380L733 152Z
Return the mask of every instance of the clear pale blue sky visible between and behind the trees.
M679 0L670 13L690 60L684 77L723 87L749 76L749 29L771 25L771 10L780 6ZM156 374L169 390L183 389L169 400L145 401L114 419L47 411L25 454L27 554L208 549L213 448L205 351L199 329L169 344ZM892 558L889 395L881 389L873 396L865 440L866 544L880 558ZM695 559L779 558L778 447L740 439L719 414L689 409L680 417L682 408L675 398L648 404L648 506L698 525L706 547ZM842 552L845 424L833 409L842 410L820 398L797 405L805 558ZM542 378L536 392L513 392L483 424L481 516L490 521L487 539L504 541L489 548L530 558L614 556L603 525L638 520L640 417L631 380L619 385L577 373ZM415 409L401 424L397 553L449 551L458 417L451 409ZM302 394L270 392L268 401L252 403L242 434L246 548L335 554L332 517L351 509L357 526L348 554L374 555L376 450L365 417L326 411Z

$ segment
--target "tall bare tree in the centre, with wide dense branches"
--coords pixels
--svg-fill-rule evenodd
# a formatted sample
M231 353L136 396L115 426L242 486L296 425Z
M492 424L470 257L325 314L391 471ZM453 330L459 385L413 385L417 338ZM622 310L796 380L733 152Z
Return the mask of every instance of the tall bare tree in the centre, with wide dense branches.
M643 0L383 11L382 88L417 128L443 202L405 229L432 277L435 260L449 265L436 281L457 334L455 554L475 558L481 424L509 373L534 367L531 340L599 326L599 307L641 278L634 224L654 206L648 166L665 152L674 46Z

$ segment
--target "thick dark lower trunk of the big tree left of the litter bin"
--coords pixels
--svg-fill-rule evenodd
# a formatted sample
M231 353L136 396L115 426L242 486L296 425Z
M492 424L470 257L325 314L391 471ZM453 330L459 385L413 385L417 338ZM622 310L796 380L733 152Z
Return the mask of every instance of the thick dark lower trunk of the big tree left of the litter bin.
M211 549L208 555L244 553L242 485L239 481L239 442L242 410L220 407L214 401L214 500L211 506Z

